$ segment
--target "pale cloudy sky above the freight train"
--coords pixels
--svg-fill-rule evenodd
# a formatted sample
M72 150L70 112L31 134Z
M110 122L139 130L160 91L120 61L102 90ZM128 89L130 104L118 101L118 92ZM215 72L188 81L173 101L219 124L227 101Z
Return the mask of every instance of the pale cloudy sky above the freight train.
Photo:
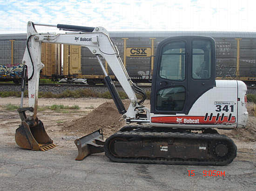
M109 32L256 32L256 0L0 0L0 15L0 34L27 33L28 21Z

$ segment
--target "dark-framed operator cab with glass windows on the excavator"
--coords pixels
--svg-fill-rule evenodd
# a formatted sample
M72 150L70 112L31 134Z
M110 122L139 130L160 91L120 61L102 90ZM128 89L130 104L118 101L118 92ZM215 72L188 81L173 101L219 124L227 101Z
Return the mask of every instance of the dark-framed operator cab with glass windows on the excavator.
M179 36L157 47L151 94L151 113L188 114L195 101L215 86L215 40Z

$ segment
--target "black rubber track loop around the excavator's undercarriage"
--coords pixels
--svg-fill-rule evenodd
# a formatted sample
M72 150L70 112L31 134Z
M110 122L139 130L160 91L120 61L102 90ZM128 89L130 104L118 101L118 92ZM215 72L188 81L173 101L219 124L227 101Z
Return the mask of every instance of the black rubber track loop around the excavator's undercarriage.
M128 127L128 126L127 126ZM136 127L136 126L131 126ZM142 127L142 126L138 126ZM190 139L190 140L207 140L207 142L213 141L225 141L228 143L230 148L230 153L227 154L227 159L167 159L167 158L149 158L149 157L116 157L111 154L109 151L108 144L111 142L112 139L115 138L163 138L163 139L171 139L171 138L182 138L182 139ZM142 164L168 164L168 165L202 165L202 166L224 166L228 165L236 158L236 145L233 140L229 139L227 136L222 134L199 134L199 133L181 133L181 132L145 132L140 131L140 129L136 129L133 131L126 131L126 132L116 132L115 134L111 135L105 142L104 146L105 155L115 162L125 162L125 163L142 163Z

